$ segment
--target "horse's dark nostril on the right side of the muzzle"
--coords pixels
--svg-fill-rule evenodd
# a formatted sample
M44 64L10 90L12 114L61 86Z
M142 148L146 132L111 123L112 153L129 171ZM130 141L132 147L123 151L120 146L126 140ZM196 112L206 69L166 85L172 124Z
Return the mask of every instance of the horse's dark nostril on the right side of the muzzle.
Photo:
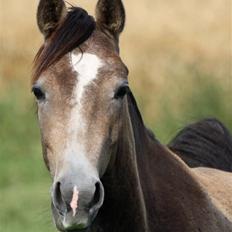
M95 193L93 196L93 200L90 203L90 212L95 213L95 211L102 206L103 200L104 200L104 189L102 183L97 182L95 184Z

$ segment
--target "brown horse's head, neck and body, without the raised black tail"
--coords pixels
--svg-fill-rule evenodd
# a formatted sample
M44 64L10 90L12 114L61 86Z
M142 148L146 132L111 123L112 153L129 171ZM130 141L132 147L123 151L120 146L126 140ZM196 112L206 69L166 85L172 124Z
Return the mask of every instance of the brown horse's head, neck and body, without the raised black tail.
M40 0L32 92L59 231L229 232L232 176L190 168L146 128L119 55L121 0L95 18Z

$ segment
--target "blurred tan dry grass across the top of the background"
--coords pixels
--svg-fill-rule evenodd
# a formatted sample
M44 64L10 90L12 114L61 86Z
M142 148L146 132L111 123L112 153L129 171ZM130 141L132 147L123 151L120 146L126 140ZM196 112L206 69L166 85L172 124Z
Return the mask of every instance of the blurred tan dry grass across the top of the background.
M79 0L78 5L93 13L94 2ZM122 35L122 56L134 70L133 76L137 69L142 69L154 82L166 82L164 77L170 67L181 61L228 77L231 0L124 2L127 27ZM37 1L1 0L5 78L24 76L30 71L30 63L42 40L35 22L36 7Z

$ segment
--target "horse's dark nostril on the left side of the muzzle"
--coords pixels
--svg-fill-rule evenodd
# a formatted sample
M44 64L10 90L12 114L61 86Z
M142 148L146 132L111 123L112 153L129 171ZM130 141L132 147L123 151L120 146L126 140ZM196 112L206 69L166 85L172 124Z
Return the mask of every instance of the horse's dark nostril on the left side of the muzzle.
M53 193L53 203L56 209L59 211L59 213L64 216L64 212L67 211L67 206L62 197L60 182L57 182L55 184L54 193Z

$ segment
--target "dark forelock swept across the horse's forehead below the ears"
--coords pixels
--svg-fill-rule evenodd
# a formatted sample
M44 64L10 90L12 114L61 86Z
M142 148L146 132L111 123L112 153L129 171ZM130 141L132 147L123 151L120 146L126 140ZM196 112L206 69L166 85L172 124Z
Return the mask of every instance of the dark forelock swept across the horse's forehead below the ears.
M69 8L66 17L45 41L35 57L33 81L65 54L85 42L95 28L94 18L84 9Z

